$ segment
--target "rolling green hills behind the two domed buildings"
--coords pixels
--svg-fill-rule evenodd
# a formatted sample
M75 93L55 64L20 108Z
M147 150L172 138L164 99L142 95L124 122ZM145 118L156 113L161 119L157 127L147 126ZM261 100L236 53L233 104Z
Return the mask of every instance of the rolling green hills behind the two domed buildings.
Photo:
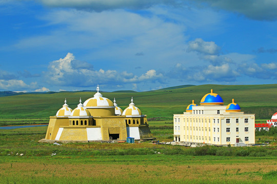
M255 113L257 119L269 119L277 111L277 84L268 85L199 85L176 89L160 89L140 93L102 93L104 97L116 98L116 103L122 109L130 103L131 97L148 118L157 120L172 120L174 113L182 113L194 99L200 103L202 97L210 93L219 94L225 104L232 98L238 103L242 111ZM28 94L9 97L0 97L0 124L6 124L7 119L29 119L54 116L64 104L74 109L80 97L83 102L93 97L92 92L56 93L56 94Z

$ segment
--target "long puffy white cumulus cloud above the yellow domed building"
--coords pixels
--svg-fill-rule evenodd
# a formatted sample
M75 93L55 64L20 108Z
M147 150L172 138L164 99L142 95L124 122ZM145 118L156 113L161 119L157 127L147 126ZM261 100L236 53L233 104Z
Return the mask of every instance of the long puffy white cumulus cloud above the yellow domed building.
M45 80L54 85L89 87L99 83L120 85L122 83L155 81L163 77L162 74L157 74L155 70L149 70L141 76L126 71L105 71L102 68L97 71L85 61L78 61L77 66L74 64L75 61L74 55L68 53L65 58L50 62L48 70L44 73Z

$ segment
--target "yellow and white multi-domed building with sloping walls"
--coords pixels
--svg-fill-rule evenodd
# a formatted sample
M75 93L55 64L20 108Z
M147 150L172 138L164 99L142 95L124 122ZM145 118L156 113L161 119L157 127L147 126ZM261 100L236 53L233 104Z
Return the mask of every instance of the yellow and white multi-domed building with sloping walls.
M46 140L56 141L108 141L151 138L147 116L134 106L133 98L124 111L103 97L97 86L97 93L72 110L66 104L50 117Z

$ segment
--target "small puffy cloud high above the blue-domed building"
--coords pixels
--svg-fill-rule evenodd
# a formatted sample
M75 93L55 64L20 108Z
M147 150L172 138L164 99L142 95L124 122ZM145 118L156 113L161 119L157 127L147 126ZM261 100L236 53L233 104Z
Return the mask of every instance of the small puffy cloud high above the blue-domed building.
M220 52L214 41L204 41L202 38L196 38L194 41L188 43L188 52L196 51L201 54L217 55Z

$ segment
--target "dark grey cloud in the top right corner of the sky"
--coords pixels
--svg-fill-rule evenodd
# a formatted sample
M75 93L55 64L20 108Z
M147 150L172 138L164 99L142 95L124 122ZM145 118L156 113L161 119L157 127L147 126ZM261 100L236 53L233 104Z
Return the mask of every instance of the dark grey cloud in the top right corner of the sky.
M276 20L277 19L277 1L233 1L233 0L190 0L203 6L203 2L216 9L243 14L248 18L255 20Z

